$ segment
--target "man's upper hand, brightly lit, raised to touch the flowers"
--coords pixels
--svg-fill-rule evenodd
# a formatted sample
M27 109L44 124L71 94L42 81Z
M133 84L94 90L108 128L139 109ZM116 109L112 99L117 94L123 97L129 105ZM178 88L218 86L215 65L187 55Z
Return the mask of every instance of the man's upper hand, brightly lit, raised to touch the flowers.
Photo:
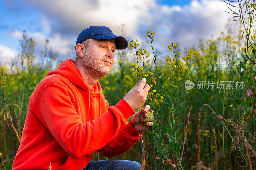
M140 79L140 81L124 96L124 100L135 111L139 109L145 102L148 96L150 86L146 84L146 78Z

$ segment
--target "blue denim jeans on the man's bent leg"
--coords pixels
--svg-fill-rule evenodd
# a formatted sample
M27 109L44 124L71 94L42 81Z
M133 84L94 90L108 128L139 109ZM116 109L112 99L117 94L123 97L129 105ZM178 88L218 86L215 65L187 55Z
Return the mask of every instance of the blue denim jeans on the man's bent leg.
M90 161L84 170L140 170L140 164L131 160Z

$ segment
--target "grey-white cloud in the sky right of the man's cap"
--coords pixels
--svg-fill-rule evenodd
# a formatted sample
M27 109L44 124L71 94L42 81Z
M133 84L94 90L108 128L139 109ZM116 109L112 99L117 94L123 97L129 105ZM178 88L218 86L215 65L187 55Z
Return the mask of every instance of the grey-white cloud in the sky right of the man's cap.
M146 31L152 30L155 35L155 47L168 52L171 42L178 42L180 48L191 47L198 39L214 39L225 31L225 24L232 14L226 3L220 0L193 0L189 5L167 6L156 5L151 13L151 21L140 29L137 38L145 40Z

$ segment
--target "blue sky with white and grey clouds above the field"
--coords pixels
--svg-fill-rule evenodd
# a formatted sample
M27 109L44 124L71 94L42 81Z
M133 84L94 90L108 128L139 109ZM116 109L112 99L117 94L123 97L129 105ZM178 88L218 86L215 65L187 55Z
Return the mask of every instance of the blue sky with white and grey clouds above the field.
M180 48L198 44L198 39L216 39L232 14L222 0L0 0L1 63L17 55L18 38L26 30L36 41L36 54L49 47L59 59L70 58L78 34L91 25L107 26L118 35L125 24L127 38L155 35L155 47L165 52L170 42Z

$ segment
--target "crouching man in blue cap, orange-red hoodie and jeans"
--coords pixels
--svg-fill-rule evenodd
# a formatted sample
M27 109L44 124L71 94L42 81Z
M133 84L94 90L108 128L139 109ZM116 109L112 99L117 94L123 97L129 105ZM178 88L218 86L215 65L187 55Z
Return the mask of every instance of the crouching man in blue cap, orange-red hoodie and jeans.
M50 71L30 97L13 170L48 169L50 163L58 170L140 169L133 161L91 161L95 151L107 157L126 152L147 129L140 119L144 112L134 114L150 89L145 78L111 107L98 82L112 69L114 51L127 47L107 27L90 26L79 34L76 61ZM151 126L148 110L147 105L144 116Z

